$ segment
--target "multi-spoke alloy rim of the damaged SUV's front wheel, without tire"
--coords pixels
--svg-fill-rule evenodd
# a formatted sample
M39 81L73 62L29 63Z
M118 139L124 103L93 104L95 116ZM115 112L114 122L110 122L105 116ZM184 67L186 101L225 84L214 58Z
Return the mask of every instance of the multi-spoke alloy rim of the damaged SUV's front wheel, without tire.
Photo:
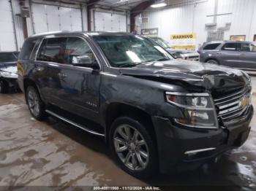
M132 171L142 171L148 165L149 150L145 139L130 125L120 125L113 136L116 153Z

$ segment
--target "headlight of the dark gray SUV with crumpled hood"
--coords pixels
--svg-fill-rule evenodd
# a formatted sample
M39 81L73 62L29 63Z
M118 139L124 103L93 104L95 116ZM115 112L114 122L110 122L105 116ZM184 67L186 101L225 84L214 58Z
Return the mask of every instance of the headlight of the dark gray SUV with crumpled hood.
M191 128L218 128L214 102L208 93L166 93L167 101L178 106L183 117L174 119Z

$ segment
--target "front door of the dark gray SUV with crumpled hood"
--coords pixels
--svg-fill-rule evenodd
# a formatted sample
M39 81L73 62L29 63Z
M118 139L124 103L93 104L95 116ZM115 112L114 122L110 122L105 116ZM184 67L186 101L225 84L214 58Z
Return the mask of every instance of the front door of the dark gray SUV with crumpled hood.
M64 61L59 72L61 91L59 98L67 111L83 117L94 117L99 111L100 74L90 67L73 66L73 58L85 58L94 53L85 39L67 38ZM93 60L93 59L91 59Z

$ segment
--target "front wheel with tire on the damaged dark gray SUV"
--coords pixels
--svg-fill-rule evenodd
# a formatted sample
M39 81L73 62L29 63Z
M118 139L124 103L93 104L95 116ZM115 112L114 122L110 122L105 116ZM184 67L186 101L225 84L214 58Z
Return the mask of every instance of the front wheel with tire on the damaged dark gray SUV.
M125 136L128 134L130 139ZM118 117L111 125L109 139L113 156L128 174L145 179L157 171L156 145L142 122Z

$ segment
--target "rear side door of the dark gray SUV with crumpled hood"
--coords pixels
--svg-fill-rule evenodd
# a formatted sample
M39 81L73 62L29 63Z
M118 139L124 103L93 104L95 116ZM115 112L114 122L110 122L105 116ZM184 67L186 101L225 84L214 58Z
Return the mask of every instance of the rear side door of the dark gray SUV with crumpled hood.
M38 84L41 86L41 94L51 104L62 106L60 99L61 80L58 74L61 72L61 64L64 64L64 49L67 38L58 37L43 39L37 53L35 70L37 70ZM40 72L45 71L40 77Z

